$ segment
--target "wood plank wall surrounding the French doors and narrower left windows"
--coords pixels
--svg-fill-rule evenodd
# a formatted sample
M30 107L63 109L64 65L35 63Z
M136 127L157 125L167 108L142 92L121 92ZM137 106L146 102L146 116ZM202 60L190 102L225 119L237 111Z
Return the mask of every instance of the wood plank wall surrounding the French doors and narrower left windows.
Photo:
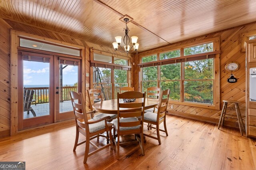
M111 47L97 45L54 31L31 27L29 25L0 18L0 137L10 135L10 101L8 100L10 99L10 28L74 45L84 46L86 73L90 73L90 48L114 54L114 50ZM123 53L117 54L127 57ZM131 62L133 62L132 58ZM133 75L133 70L131 71L131 75ZM86 77L85 83L90 84L90 77ZM131 84L133 86L133 76L131 76ZM87 89L90 89L90 87L87 87L86 90ZM89 110L87 92L86 109Z

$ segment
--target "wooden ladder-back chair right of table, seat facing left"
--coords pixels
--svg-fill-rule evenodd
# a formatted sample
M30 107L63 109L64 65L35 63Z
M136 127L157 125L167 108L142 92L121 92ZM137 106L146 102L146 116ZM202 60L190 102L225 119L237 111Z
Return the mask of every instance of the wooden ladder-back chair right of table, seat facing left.
M162 90L160 92L158 111L156 113L147 112L144 114L144 122L148 123L148 130L150 128L156 129L157 137L152 136L151 134L144 134L146 137L151 137L153 139L158 140L159 145L161 145L160 133L159 131L165 132L166 136L168 136L166 129L166 109L168 105L168 100L170 96L170 89ZM159 125L164 122L164 130L159 129ZM154 127L153 125L156 125Z

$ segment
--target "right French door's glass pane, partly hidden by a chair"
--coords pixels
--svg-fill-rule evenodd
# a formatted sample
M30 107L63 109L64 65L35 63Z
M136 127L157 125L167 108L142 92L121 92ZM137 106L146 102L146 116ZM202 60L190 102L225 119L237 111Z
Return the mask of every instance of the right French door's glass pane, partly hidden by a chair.
M70 91L78 92L78 66L60 64L60 113L73 111Z

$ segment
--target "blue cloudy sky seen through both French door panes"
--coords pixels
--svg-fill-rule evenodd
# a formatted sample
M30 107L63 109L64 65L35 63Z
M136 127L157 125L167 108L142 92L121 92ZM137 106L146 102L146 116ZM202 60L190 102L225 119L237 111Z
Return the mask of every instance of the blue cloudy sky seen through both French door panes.
M50 63L23 61L24 85L48 85ZM63 69L63 85L74 84L78 80L78 66L67 66Z

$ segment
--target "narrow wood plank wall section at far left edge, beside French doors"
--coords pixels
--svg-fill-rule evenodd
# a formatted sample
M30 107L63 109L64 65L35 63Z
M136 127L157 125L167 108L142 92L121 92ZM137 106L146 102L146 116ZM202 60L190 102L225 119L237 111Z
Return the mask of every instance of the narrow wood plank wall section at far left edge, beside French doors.
M0 18L0 137L10 134L10 28Z

